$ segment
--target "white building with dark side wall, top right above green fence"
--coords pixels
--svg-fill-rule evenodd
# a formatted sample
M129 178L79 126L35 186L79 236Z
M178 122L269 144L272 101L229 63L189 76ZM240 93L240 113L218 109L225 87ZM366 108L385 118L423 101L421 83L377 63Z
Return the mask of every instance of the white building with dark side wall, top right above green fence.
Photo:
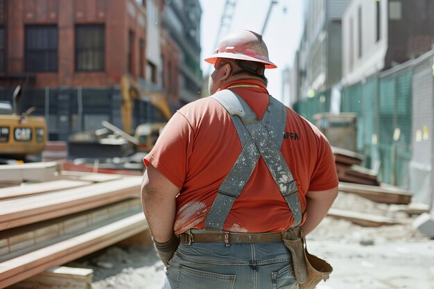
M433 1L351 0L342 17L342 85L417 58L433 44Z

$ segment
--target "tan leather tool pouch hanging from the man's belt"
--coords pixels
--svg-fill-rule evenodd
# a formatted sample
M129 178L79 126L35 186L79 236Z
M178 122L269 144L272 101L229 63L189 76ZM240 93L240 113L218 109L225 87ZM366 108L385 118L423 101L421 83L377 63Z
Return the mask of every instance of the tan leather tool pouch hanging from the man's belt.
M326 261L309 254L303 233L295 240L285 239L284 243L293 257L294 274L300 289L313 289L321 280L329 279L333 268Z

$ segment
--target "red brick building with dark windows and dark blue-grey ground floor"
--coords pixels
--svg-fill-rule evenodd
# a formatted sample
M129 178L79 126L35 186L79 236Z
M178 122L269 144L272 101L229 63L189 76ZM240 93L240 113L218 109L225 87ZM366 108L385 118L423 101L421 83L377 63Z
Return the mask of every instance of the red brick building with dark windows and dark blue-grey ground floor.
M0 101L23 86L21 111L35 106L46 116L51 140L103 120L122 127L124 75L179 106L177 46L159 26L163 8L163 0L0 0ZM150 45L148 33L161 43ZM161 55L148 61L148 50ZM136 100L133 127L155 121L156 109Z

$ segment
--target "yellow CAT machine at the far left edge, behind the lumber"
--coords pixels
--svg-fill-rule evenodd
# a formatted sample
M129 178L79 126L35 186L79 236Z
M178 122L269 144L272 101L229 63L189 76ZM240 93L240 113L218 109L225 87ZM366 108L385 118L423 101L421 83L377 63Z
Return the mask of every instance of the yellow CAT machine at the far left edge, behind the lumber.
M35 107L19 114L21 86L12 94L12 106L0 103L0 158L26 160L46 146L46 122L42 116L31 116Z

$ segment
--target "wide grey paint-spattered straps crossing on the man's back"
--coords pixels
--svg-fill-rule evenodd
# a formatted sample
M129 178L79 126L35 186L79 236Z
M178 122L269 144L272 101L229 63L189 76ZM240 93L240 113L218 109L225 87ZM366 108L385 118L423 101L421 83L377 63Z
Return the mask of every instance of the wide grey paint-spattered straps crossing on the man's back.
M270 96L266 113L260 120L234 91L224 89L210 97L223 105L230 114L243 149L218 189L216 200L205 220L205 229L223 229L232 205L241 195L260 156L293 213L292 227L300 225L302 210L297 184L280 151L286 126L286 107Z

